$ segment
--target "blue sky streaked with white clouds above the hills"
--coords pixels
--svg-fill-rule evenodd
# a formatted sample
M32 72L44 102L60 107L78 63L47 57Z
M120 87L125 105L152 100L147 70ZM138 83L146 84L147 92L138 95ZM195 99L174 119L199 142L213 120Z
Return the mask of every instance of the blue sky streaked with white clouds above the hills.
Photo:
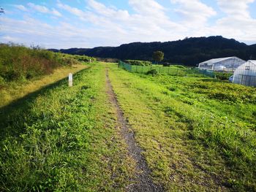
M1 0L0 42L118 46L221 35L256 43L256 0Z

